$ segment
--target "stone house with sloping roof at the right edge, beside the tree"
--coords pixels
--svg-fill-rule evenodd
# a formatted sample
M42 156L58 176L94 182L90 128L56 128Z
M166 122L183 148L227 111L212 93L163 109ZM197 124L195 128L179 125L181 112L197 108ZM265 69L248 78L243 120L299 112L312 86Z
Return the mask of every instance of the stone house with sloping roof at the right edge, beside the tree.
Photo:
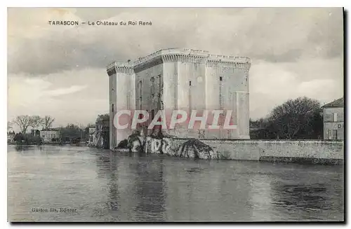
M322 106L324 139L344 139L344 97Z

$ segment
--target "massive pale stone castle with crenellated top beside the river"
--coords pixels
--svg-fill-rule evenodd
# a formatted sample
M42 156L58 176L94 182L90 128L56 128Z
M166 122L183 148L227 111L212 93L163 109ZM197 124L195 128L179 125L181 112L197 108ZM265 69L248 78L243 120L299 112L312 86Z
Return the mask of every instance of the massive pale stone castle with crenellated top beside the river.
M110 146L117 146L132 132L114 127L117 109L147 110L151 116L159 110L232 110L236 130L164 131L177 137L249 139L250 66L247 57L211 55L186 48L159 50L134 62L112 62L107 66Z

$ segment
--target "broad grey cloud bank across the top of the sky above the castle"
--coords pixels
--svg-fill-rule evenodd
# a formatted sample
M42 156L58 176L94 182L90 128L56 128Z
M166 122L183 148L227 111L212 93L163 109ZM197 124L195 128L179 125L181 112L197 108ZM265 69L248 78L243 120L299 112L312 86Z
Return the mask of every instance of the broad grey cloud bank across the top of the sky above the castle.
M126 8L105 19L152 21L152 26L48 25L48 20L102 20L105 10L91 19L95 8L63 12L47 8L8 11L11 73L103 68L115 59L135 59L170 47L268 62L343 55L342 8ZM107 15L112 13L113 9ZM22 25L29 16L32 26ZM21 39L15 39L19 35Z

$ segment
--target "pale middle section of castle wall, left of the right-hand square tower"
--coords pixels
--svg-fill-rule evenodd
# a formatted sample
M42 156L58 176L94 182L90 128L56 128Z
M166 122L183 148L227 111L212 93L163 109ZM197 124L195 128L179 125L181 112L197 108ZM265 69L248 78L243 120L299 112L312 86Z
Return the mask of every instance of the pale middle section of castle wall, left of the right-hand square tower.
M164 55L164 109L166 117L171 111L183 110L188 118L192 110L198 116L206 109L205 62L201 57L193 55ZM187 130L187 125L180 130L165 130L167 134L182 137L197 137L197 130Z

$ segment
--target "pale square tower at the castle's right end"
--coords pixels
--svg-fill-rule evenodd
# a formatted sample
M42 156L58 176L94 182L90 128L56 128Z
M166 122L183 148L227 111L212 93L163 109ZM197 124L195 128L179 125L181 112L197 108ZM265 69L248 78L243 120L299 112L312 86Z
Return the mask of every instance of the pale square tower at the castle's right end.
M249 139L250 59L209 55L206 62L206 109L232 111L236 130L221 130L220 139ZM206 138L213 138L208 132Z

